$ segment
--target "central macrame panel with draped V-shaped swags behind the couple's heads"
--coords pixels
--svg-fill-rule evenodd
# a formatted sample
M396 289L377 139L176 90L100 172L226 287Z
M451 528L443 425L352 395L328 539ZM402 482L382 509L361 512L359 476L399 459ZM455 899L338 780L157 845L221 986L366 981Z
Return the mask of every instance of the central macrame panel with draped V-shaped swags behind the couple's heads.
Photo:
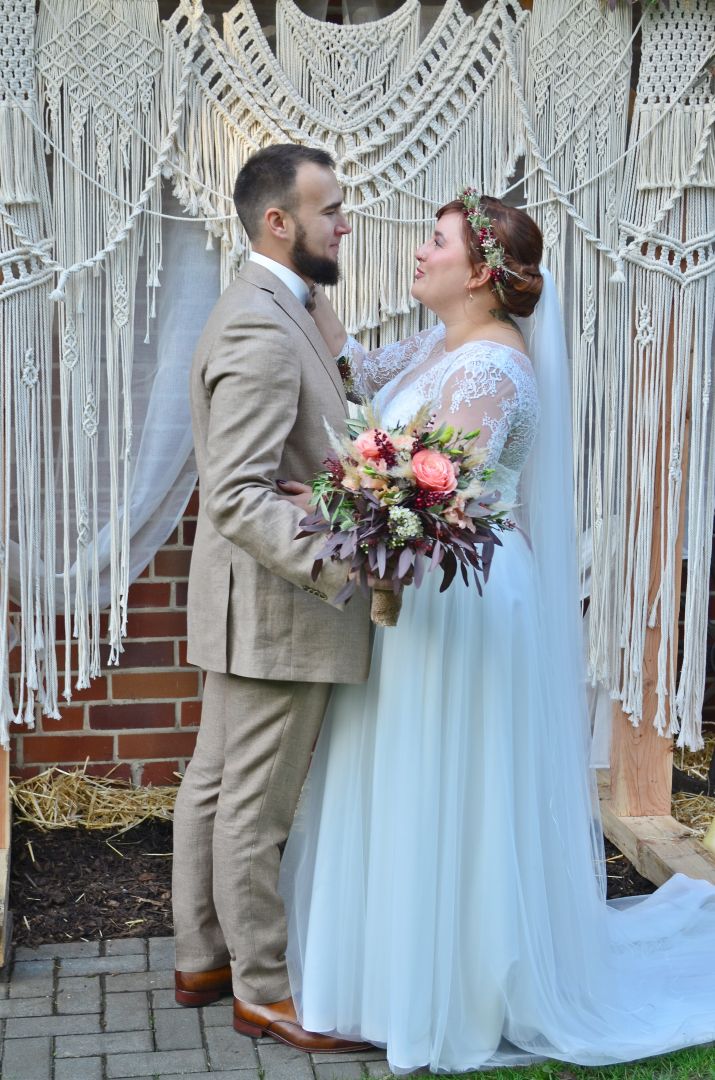
M343 68L326 54L325 24L284 3L281 17L287 12L300 23L300 54L322 57L313 63L332 64L332 78L343 80L329 100L320 93L311 100L269 48L248 0L225 15L222 38L204 16L199 48L187 60L192 10L181 0L164 24L170 63L173 57L179 71L188 62L193 73L174 159L175 191L190 211L222 219L212 231L221 242L224 281L245 253L224 194L241 164L269 143L321 146L336 159L353 226L339 310L351 333L380 327L385 339L412 333L421 318L409 296L414 254L434 211L467 181L501 190L522 153L513 85L523 79L525 12L511 0L489 0L473 19L448 0L417 48L395 22L400 48L405 55L407 43L413 50L400 70L383 62L385 41L368 24L355 76L354 66ZM300 56L291 60L307 83L302 63ZM372 92L356 107L355 79L373 70Z

